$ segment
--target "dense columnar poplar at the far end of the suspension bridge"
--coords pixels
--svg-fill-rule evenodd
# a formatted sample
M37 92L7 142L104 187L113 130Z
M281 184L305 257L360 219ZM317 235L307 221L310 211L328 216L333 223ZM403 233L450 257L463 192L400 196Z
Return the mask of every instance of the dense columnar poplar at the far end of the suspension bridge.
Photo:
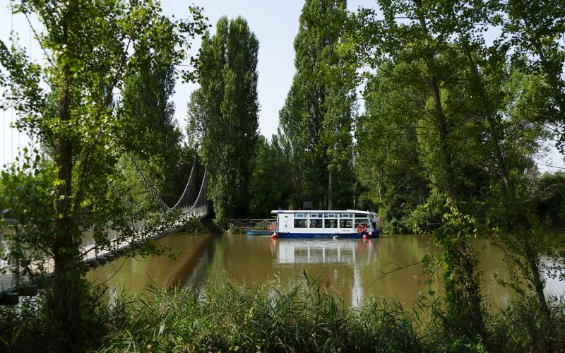
M200 49L200 88L189 102L188 133L208 167L208 196L220 224L249 210L258 138L258 47L244 18L222 17Z

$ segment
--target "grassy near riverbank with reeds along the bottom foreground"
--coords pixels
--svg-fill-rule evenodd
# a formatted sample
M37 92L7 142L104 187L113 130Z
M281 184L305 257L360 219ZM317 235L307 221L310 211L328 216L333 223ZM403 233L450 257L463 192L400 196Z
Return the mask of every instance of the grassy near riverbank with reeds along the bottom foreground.
M542 352L548 343L565 344L565 306L558 301L551 306L554 342L544 341L528 300L483 308L484 338L468 337L451 328L440 299L422 297L409 309L369 299L350 309L311 279L161 289L134 300L121 294L112 306L93 295L91 302L82 348L97 352ZM0 350L35 352L47 335L41 300L0 307Z

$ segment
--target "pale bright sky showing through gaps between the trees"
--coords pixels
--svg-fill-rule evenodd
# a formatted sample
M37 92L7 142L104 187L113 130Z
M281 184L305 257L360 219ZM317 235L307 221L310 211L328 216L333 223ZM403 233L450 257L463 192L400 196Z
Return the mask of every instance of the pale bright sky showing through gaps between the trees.
M295 74L295 52L293 42L298 32L298 19L303 0L162 0L163 12L167 16L186 18L189 6L195 4L204 8L215 32L215 23L222 16L242 16L259 41L258 52L258 100L260 104L259 129L267 137L276 133L278 111L283 107L287 92ZM354 11L359 6L374 7L374 0L350 0L347 7ZM32 58L39 59L40 47L32 40L32 31L25 18L11 16L9 0L0 0L0 40L9 42L11 28L18 32L20 46L28 49ZM35 27L35 26L34 26ZM31 45L30 45L31 43ZM200 41L196 40L191 52L196 53ZM173 100L175 118L179 125L186 126L186 104L190 93L198 88L194 83L177 84ZM9 128L15 118L11 110L0 112L0 166L14 160L18 147L28 145L27 136ZM540 159L542 164L565 167L563 156L552 150L548 157ZM549 169L542 165L542 170ZM555 170L555 169L553 169Z

